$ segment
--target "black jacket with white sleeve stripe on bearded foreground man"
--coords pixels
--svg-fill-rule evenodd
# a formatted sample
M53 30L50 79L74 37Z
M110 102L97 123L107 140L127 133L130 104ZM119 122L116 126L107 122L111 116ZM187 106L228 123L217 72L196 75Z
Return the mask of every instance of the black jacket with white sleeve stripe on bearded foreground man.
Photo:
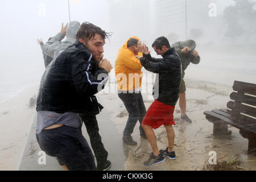
M102 108L94 94L104 88L106 81L108 72L98 67L84 44L77 42L46 68L36 110L98 114Z

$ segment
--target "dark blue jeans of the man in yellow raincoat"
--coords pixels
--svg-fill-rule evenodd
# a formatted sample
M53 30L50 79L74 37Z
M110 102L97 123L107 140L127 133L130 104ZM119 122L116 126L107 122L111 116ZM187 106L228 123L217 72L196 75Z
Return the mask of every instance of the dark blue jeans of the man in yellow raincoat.
M123 131L123 135L131 135L137 121L141 124L139 126L141 135L145 135L144 130L142 129L142 121L146 114L146 107L144 105L141 92L118 93L118 97L121 98L129 113L129 118L126 123L125 130Z

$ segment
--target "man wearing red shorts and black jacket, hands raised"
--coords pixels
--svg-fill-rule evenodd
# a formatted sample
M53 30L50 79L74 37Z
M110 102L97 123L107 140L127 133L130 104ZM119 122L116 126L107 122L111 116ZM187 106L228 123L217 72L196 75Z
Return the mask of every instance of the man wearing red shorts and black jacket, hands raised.
M143 45L143 57L140 57L141 64L147 71L157 73L153 89L155 101L143 119L142 127L146 133L148 142L152 147L150 158L144 162L145 166L164 161L164 156L176 159L174 151L174 109L179 99L179 86L181 82L181 61L175 48L171 48L170 43L165 37L160 37L152 44L157 55L162 59L151 57L148 47ZM156 137L153 129L158 129L164 125L167 132L168 147L166 150L158 149Z

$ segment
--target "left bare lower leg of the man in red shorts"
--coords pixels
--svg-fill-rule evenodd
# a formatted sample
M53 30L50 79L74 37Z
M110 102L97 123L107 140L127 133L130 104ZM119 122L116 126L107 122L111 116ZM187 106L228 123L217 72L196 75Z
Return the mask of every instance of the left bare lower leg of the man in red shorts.
M155 156L158 156L160 153L159 153L159 149L158 149L158 144L156 143L156 137L155 137L154 130L152 129L151 126L147 126L147 125L143 125L143 124L142 124L142 128L145 131L147 140L152 147L153 154Z

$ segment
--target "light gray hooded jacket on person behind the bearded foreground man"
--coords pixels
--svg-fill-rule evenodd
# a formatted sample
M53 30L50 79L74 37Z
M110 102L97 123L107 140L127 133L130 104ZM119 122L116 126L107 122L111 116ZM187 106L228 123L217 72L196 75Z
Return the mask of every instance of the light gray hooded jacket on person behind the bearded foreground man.
M59 32L55 35L51 40L49 40L46 44L44 44L41 48L43 53L52 57L53 59L57 57L61 52L65 51L69 46L74 44L76 40L77 31L79 31L80 23L77 21L73 21L69 23L67 27L67 39L64 42L61 40L64 39L64 35Z

